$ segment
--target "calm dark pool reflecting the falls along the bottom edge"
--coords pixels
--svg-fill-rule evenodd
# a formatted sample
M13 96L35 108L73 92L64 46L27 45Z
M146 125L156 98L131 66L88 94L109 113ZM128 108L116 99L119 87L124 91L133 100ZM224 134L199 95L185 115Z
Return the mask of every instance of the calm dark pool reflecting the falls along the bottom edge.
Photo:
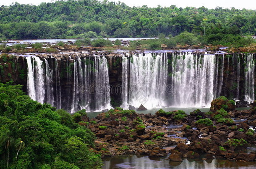
M165 158L157 160L149 159L148 156L137 157L113 157L104 161L103 169L255 169L256 162L236 162L228 160L191 160L184 159L182 162L173 162Z

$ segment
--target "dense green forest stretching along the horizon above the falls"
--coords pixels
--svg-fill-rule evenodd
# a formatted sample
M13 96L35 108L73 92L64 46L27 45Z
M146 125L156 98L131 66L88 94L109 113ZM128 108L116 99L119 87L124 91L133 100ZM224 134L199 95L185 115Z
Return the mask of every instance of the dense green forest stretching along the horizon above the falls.
M232 4L230 4L232 6ZM235 8L129 7L104 0L60 0L0 7L0 38L126 38L188 32L206 43L256 35L256 11Z

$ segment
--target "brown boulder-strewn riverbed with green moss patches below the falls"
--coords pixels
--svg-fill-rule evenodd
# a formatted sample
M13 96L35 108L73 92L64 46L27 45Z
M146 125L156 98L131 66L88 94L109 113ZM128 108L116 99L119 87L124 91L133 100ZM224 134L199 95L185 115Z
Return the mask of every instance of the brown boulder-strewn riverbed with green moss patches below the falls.
M170 161L255 161L256 152L246 151L246 147L256 144L255 106L238 111L233 101L221 96L212 101L209 112L197 109L187 115L184 111L160 109L151 115L117 107L96 118L81 116L77 121L95 133L94 151L102 158L136 154Z

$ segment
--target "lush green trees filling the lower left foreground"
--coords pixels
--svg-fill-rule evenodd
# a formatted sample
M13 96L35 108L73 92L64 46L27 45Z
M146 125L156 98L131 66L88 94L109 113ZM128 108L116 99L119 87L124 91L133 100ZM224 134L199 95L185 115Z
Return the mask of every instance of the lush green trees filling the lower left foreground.
M0 83L0 169L101 168L100 155L90 149L94 134L67 111L31 100L21 87Z

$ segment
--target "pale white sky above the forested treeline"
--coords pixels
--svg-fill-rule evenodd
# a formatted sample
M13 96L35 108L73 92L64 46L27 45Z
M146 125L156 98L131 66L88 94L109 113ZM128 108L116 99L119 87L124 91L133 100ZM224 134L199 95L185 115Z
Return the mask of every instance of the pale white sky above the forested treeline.
M54 2L55 0L0 0L0 5L10 5L11 3L18 2L20 4L33 4L39 5L42 2ZM232 8L236 9L252 9L256 10L256 0L109 0L115 2L123 2L131 7L148 5L148 7L157 7L157 5L169 7L176 5L177 7L196 7L204 6L206 8Z

